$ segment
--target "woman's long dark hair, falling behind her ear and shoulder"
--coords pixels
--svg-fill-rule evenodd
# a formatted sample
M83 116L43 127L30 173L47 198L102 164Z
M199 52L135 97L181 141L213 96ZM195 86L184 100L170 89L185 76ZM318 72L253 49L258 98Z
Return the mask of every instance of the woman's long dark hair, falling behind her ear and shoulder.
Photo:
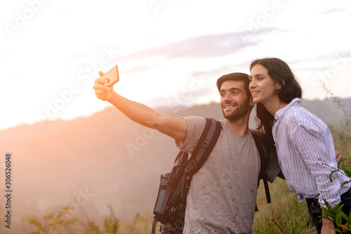
M250 65L250 71L256 64L263 65L267 69L268 74L282 86L279 90L278 96L284 103L290 103L293 98L301 98L303 91L298 79L291 71L289 65L279 58L260 58L253 60ZM274 143L272 136L272 125L274 117L268 112L262 103L256 104L256 121L258 122L258 128L263 131L267 143Z

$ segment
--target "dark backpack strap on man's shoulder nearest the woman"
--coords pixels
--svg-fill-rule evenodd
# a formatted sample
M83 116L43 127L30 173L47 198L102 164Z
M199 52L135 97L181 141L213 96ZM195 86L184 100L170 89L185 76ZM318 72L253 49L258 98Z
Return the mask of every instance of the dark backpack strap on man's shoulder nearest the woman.
M263 142L263 139L260 138L260 136L257 136L256 134L252 134L253 140L255 141L258 154L260 155L260 174L258 174L258 183L260 182L260 179L263 179L263 184L265 186L265 196L267 198L267 203L271 203L270 199L270 189L268 187L268 182L267 182L267 174L265 172L265 169L267 168L268 160L270 159L270 155L268 154L267 147L265 146L265 143Z

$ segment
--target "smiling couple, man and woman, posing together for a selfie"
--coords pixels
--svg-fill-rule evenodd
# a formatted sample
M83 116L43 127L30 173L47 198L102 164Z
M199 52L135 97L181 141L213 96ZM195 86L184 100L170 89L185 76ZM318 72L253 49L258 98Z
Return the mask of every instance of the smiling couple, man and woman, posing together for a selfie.
M333 223L322 221L314 210L318 204L324 206L324 199L335 206L350 197L351 183L340 187L347 177L334 173L333 182L329 181L330 167L337 167L329 129L298 106L302 91L284 61L253 60L250 71L250 75L231 73L217 80L222 131L208 160L192 178L183 233L252 233L260 172L260 157L249 131L255 103L258 131L270 145L275 142L277 146L279 162L270 160L268 180L274 181L282 167L289 189L300 202L306 198L317 230L335 233L329 228ZM178 118L156 112L120 96L105 83L102 78L95 80L98 98L112 103L134 122L171 136L181 150L192 152L204 129L203 117Z

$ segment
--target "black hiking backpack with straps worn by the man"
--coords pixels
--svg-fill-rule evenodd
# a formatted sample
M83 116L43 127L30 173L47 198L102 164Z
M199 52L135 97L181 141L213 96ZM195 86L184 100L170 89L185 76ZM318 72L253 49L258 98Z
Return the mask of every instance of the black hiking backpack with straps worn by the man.
M161 174L159 193L154 206L154 222L152 223L152 234L156 231L156 225L161 223L161 233L183 233L185 205L187 192L190 188L192 176L199 171L207 160L208 155L216 145L222 125L215 119L206 118L204 131L202 132L192 156L180 150L170 173ZM270 203L270 191L268 189L267 174L265 168L269 160L269 154L262 138L252 134L260 154L260 174L258 183L263 179L267 202ZM257 211L257 207L256 207Z

